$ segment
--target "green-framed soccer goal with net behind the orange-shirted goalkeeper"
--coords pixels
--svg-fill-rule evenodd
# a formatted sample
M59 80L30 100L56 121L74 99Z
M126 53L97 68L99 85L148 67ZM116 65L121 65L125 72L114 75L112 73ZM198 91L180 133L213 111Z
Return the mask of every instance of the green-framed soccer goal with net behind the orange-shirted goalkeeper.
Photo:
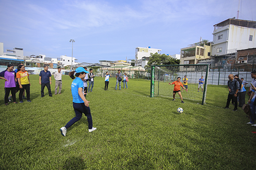
M206 100L208 64L185 64L185 65L159 65L151 66L150 97L164 96L171 97L174 85L169 85L181 77L183 83L184 76L188 79L188 92L183 90L183 99L202 101ZM203 85L199 86L199 79L203 76ZM203 88L203 90L202 90ZM182 87L181 87L182 90ZM179 95L176 94L176 98Z

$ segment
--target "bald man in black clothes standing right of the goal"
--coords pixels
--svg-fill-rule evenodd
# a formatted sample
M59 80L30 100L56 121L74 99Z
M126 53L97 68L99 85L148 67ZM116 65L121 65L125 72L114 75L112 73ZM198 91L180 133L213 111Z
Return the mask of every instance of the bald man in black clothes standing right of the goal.
M228 99L227 99L227 103L226 103L226 106L224 109L228 109L229 107L229 104L230 104L230 100L232 99L232 101L234 101L235 103L235 108L233 111L237 111L237 93L238 93L238 90L239 90L239 82L236 81L234 79L234 75L233 74L229 74L228 75Z

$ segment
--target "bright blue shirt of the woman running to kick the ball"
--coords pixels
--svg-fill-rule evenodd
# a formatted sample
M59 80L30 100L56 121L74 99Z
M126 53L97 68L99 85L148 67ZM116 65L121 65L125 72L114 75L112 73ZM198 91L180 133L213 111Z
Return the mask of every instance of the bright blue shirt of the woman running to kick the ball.
M71 84L71 91L74 103L84 103L84 100L78 94L78 88L83 88L84 82L79 77L76 77ZM83 91L83 90L82 90Z

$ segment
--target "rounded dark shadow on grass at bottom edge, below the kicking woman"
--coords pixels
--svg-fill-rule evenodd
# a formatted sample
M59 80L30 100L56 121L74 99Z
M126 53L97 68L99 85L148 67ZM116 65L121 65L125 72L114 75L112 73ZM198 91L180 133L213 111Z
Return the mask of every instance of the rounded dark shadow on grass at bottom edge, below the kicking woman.
M82 158L72 156L66 160L63 169L87 169L87 167Z

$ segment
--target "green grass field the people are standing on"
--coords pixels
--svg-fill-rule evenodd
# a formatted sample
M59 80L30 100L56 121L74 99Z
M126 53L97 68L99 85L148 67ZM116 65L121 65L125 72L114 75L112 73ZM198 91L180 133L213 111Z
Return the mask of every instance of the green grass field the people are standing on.
M207 87L206 104L150 98L150 82L130 80L114 90L111 78L96 77L87 95L94 127L87 118L59 129L74 116L70 86L63 75L61 95L40 97L39 76L31 75L31 100L4 105L0 80L0 169L255 169L256 129L246 114L225 107L228 89ZM51 85L54 94L55 82ZM123 87L123 86L122 86ZM173 90L170 86L170 93ZM183 92L184 93L184 92ZM18 97L17 97L18 99ZM184 112L179 114L177 108Z

